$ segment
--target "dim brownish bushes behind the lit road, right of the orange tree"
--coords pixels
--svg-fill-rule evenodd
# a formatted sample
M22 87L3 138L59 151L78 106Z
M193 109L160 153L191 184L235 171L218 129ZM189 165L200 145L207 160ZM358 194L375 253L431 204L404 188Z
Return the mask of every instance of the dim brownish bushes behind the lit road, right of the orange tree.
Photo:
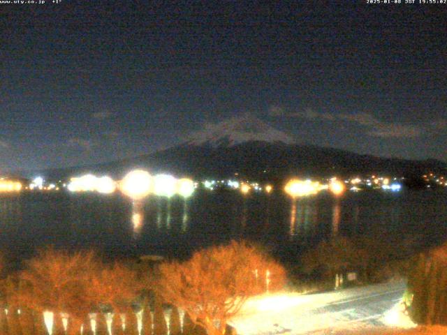
M305 251L289 277L303 292L406 278L411 258L423 250L418 237L332 237Z

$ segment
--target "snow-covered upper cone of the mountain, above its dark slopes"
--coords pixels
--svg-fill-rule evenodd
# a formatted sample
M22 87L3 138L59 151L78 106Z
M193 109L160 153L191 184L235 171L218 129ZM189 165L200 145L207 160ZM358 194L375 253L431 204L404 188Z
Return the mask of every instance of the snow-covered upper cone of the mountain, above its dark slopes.
M232 147L251 141L285 144L296 142L291 135L278 131L251 114L243 114L241 117L232 117L217 124L205 124L203 129L191 133L185 144Z

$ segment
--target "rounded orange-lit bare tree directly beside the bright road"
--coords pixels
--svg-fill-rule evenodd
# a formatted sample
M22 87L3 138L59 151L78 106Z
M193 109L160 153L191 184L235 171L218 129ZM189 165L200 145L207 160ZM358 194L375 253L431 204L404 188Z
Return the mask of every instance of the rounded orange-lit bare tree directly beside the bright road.
M232 241L198 251L186 262L159 267L156 289L163 299L188 313L207 334L224 334L226 322L248 297L282 287L281 265L245 242Z

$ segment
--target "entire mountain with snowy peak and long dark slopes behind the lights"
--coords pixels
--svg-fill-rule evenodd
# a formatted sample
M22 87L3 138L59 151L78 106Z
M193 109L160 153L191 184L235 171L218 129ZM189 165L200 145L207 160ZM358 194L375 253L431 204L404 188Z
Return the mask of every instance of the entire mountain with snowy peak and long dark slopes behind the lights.
M419 178L429 171L447 173L447 164L436 160L381 158L298 144L293 136L250 114L243 114L217 124L205 124L177 146L152 154L80 168L33 171L32 174L43 173L61 179L94 172L122 178L131 168L195 178L234 177L237 173L240 177L259 181L279 181L291 175L383 173ZM31 171L21 175L31 175Z

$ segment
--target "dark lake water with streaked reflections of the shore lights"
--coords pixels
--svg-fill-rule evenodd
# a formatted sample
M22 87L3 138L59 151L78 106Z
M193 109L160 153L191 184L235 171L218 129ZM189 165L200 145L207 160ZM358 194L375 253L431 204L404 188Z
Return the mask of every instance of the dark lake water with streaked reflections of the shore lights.
M198 191L182 198L22 193L0 198L0 243L17 258L38 246L94 247L106 255L183 257L233 238L248 238L293 258L336 234L421 234L447 237L447 191L362 191L292 202L282 194Z

